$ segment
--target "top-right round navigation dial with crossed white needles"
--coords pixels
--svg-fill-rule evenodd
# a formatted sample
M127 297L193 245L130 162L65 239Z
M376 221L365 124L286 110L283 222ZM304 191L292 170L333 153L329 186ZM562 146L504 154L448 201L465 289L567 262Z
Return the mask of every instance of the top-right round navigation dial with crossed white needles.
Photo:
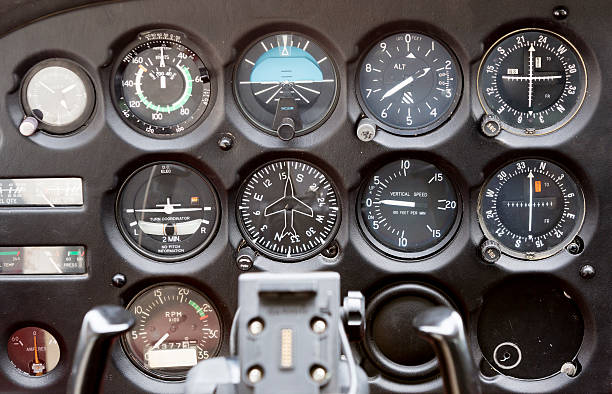
M523 29L500 38L478 70L478 98L502 128L541 135L563 127L584 101L587 73L578 50L542 29Z

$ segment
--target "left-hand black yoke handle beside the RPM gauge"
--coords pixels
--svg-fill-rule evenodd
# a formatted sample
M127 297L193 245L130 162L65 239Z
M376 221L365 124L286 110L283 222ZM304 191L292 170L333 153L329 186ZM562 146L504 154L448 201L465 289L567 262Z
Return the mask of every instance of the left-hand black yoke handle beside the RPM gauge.
M68 394L99 391L113 338L133 325L132 314L117 305L97 306L85 314L68 380Z

